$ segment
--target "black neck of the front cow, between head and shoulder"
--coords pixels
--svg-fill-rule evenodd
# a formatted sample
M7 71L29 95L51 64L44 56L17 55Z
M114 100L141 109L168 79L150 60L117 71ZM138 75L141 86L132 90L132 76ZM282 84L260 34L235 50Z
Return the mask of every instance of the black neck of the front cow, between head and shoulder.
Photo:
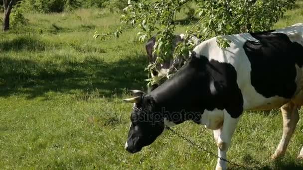
M156 102L157 111L162 113L167 125L186 120L200 123L204 105L210 99L209 80L203 71L206 63L207 61L196 58L189 61L172 79L150 93Z

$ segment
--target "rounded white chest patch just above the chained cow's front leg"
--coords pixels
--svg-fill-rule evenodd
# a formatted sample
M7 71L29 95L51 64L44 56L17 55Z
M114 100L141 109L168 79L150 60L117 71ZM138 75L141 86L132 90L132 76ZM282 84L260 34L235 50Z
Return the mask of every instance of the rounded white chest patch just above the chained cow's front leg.
M205 109L201 115L200 124L205 125L208 129L216 130L222 127L223 119L223 110L215 108L209 111Z

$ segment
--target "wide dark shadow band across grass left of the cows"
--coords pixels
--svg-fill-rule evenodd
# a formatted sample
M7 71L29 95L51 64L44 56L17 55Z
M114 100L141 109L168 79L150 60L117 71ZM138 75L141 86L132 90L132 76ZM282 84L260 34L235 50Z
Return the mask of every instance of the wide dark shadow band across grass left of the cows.
M119 96L125 89L146 86L146 65L146 57L140 55L113 63L92 57L60 64L0 58L0 96L22 93L34 98L49 91L90 93L96 89L100 96Z

